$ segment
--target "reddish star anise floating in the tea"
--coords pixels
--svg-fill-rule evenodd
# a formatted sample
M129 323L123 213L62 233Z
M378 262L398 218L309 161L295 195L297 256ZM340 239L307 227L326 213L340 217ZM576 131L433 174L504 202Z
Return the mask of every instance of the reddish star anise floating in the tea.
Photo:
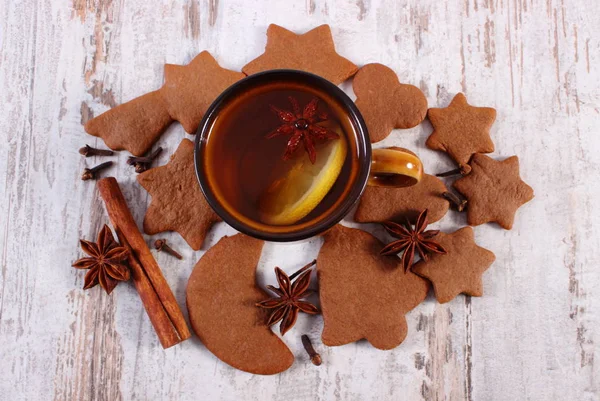
M288 99L292 104L292 111L281 110L271 105L271 110L279 117L279 120L283 124L267 135L267 138L270 139L280 135L291 135L283 155L283 160L290 159L302 142L304 144L304 149L308 153L310 162L314 164L317 160L315 142L337 139L340 136L323 126L318 125L318 123L327 121L328 119L327 113L317 112L319 103L318 98L313 98L313 100L304 106L304 110L302 111L300 110L298 101L294 97L289 96Z

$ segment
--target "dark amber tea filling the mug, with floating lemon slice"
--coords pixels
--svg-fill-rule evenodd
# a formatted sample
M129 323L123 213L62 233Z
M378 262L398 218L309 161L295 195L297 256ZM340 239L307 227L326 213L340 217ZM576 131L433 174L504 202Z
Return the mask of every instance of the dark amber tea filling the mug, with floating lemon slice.
M281 115L274 110L295 114L300 110L302 114L311 101L316 101L318 125L337 134L335 139L330 135L315 141L314 160L310 144L291 144L293 133L269 135L282 125ZM356 177L358 151L350 117L330 95L299 83L271 82L230 100L219 110L204 140L205 174L217 200L236 218L261 229L301 226L325 218L350 191ZM326 188L326 194L310 194L313 199L307 198L305 207L287 209L281 198L302 197L300 192L310 186L311 177L316 187L313 192ZM311 210L306 212L306 208ZM303 217L294 221L298 215Z

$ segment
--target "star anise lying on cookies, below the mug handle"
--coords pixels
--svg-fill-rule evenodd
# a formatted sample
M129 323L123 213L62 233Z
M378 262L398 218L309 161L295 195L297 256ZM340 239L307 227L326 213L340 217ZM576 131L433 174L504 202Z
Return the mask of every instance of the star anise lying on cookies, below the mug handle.
M380 254L395 255L404 251L402 254L402 267L404 271L408 271L411 268L415 257L415 250L419 252L421 259L425 261L428 259L428 253L446 253L446 250L440 244L431 240L440 231L425 231L427 228L427 209L419 214L414 229L408 219L404 225L394 223L393 221L386 221L383 223L383 226L398 240L384 246Z

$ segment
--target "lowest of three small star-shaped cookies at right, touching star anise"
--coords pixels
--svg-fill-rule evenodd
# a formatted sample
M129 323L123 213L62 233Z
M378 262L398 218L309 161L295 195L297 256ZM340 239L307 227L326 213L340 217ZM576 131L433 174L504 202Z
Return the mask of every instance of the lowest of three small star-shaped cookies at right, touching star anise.
M496 256L475 244L473 229L463 227L452 234L439 233L435 241L446 254L432 254L427 262L421 260L413 265L412 271L431 281L438 302L446 303L458 294L482 296L481 276Z

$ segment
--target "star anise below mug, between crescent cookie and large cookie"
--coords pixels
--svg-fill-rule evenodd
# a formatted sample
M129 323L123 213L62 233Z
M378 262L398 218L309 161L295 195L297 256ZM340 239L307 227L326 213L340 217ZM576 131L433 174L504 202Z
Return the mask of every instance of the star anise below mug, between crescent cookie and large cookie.
M299 311L311 315L319 313L316 306L309 302L302 301L302 298L306 298L314 292L313 290L308 289L308 285L310 284L310 275L312 273L310 268L314 266L316 262L316 260L313 260L289 277L283 270L276 267L275 275L277 276L279 288L275 288L272 285L267 286L275 296L256 304L256 306L260 308L273 309L269 316L269 320L267 321L267 325L272 326L281 321L281 325L279 325L279 332L281 335L287 333L287 331L296 323ZM296 276L298 278L292 282Z

